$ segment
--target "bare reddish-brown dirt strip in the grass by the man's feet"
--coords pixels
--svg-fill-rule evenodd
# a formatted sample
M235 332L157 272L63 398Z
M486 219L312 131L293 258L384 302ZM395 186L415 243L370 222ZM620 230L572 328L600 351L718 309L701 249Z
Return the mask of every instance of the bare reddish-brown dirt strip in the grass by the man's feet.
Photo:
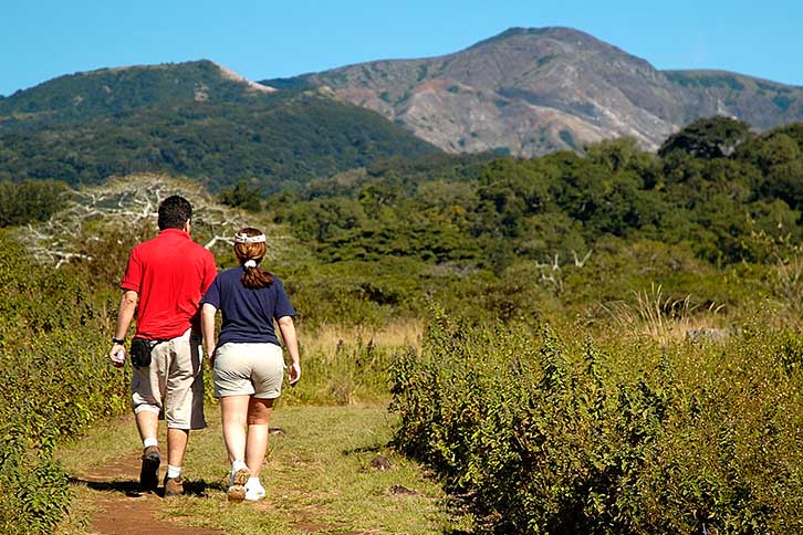
M75 483L84 483L98 491L93 506L91 533L97 535L222 535L223 532L204 527L181 526L175 522L156 518L159 494L139 491L139 461L126 460L106 464L80 474ZM103 494L101 494L101 492Z

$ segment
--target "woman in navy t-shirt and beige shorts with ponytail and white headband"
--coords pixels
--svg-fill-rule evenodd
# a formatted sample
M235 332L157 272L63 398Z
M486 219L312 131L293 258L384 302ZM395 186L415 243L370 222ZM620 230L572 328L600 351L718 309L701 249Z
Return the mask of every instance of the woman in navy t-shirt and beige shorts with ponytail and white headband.
M234 255L240 265L218 274L201 300L204 347L212 364L215 397L220 398L223 440L231 461L231 501L260 500L265 494L259 472L268 444L271 408L281 395L284 378L284 357L274 321L290 354L290 385L301 378L295 310L281 281L259 268L264 254L262 232L247 228L236 233ZM218 310L223 323L216 345Z

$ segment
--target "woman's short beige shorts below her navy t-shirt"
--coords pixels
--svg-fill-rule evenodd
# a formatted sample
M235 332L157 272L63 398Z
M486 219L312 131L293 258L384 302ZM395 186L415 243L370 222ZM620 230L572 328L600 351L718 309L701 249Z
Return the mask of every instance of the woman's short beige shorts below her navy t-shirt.
M275 399L282 394L284 357L275 344L229 343L215 352L215 397L253 396Z

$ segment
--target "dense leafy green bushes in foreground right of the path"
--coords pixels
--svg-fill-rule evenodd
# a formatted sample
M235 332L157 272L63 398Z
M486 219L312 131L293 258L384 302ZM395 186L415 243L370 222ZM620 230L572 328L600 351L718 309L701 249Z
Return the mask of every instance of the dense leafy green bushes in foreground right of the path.
M438 315L392 369L396 442L496 533L799 533L802 358L759 321L661 348Z

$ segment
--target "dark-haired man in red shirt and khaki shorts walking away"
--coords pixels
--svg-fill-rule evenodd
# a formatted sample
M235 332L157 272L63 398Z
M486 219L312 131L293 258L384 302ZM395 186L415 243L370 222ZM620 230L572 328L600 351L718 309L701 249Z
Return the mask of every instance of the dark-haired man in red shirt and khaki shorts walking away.
M123 366L119 356L136 311L135 342L139 345L142 340L145 353L150 353L147 364L135 358L138 352L132 352L132 407L144 449L139 482L149 491L158 486L161 452L157 434L164 413L166 496L184 493L181 464L189 430L206 427L198 306L217 268L212 254L190 239L191 217L187 199L168 197L159 204L159 235L132 250L109 352L113 364Z

